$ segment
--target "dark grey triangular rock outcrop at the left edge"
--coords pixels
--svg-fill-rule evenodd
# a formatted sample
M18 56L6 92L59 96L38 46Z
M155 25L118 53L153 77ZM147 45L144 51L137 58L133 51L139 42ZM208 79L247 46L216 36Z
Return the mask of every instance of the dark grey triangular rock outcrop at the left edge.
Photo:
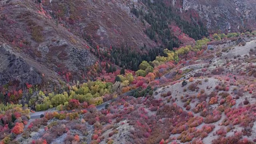
M10 46L0 46L0 85L9 82L41 84L42 75L10 50Z

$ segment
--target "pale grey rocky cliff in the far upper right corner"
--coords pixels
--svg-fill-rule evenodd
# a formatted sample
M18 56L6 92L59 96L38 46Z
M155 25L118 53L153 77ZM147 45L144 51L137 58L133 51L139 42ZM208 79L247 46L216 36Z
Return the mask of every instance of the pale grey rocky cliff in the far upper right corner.
M196 10L208 29L222 32L255 29L255 7L254 0L183 0L184 10Z

